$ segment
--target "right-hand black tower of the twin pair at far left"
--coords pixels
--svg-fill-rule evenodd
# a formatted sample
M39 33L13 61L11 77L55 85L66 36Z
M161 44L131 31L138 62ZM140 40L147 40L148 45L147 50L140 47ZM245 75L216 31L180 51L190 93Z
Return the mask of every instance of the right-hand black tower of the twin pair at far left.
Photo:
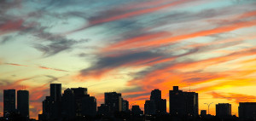
M17 109L20 115L29 118L29 92L28 90L17 91Z

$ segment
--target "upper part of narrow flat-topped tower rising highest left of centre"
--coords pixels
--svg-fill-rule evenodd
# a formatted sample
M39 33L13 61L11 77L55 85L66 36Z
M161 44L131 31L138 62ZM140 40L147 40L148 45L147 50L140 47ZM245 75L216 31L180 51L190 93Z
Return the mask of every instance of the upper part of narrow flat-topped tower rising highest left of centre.
M61 101L61 84L50 84L50 96L54 101Z

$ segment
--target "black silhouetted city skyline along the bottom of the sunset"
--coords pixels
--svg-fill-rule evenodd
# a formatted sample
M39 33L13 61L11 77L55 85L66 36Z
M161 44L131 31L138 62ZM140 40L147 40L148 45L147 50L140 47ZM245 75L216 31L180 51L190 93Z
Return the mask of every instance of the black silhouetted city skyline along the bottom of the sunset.
M195 118L198 115L204 118L207 112L209 113L209 109L208 111L201 110L201 113L199 113L198 93L183 91L178 86L173 86L172 90L169 90L169 106L172 104L172 107L169 107L170 112L166 112L166 99L161 98L160 89L151 91L150 100L145 100L144 105L147 108L144 111L136 103L129 105L129 101L124 100L122 94L115 91L105 92L104 102L97 104L96 98L88 94L87 88L78 87L63 90L61 89L61 84L49 84L49 90L49 95L45 96L45 100L42 102L43 112L38 113L38 119L41 119L41 121L61 118L74 120L78 116L82 118L84 116L98 117L101 114L103 116L111 116L116 112L144 114L145 117L179 114L180 116ZM16 98L17 100L15 100ZM22 118L29 118L29 91L24 89L17 90L17 96L15 96L15 89L4 89L3 101L4 117L9 118L9 114L18 112ZM17 102L17 108L15 102ZM236 113L232 112L230 103L220 102L218 104L213 103L213 105L216 106L215 112L218 118L236 116ZM239 118L250 119L252 116L255 118L253 113L256 112L256 102L239 102L239 105L240 107L237 107L239 108ZM133 108L138 111L133 111Z

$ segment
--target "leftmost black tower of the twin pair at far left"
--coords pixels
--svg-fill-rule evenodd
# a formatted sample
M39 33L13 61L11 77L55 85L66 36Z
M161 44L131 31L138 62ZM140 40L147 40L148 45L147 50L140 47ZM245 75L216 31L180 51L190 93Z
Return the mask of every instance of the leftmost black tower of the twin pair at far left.
M9 112L15 112L15 89L3 90L3 117L8 117Z

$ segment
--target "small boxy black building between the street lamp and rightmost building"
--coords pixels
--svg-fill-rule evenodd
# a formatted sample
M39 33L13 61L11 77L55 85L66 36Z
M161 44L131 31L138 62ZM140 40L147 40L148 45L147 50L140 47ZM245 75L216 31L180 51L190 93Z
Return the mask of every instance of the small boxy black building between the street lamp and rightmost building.
M229 103L216 104L216 116L220 118L231 116L231 104Z

